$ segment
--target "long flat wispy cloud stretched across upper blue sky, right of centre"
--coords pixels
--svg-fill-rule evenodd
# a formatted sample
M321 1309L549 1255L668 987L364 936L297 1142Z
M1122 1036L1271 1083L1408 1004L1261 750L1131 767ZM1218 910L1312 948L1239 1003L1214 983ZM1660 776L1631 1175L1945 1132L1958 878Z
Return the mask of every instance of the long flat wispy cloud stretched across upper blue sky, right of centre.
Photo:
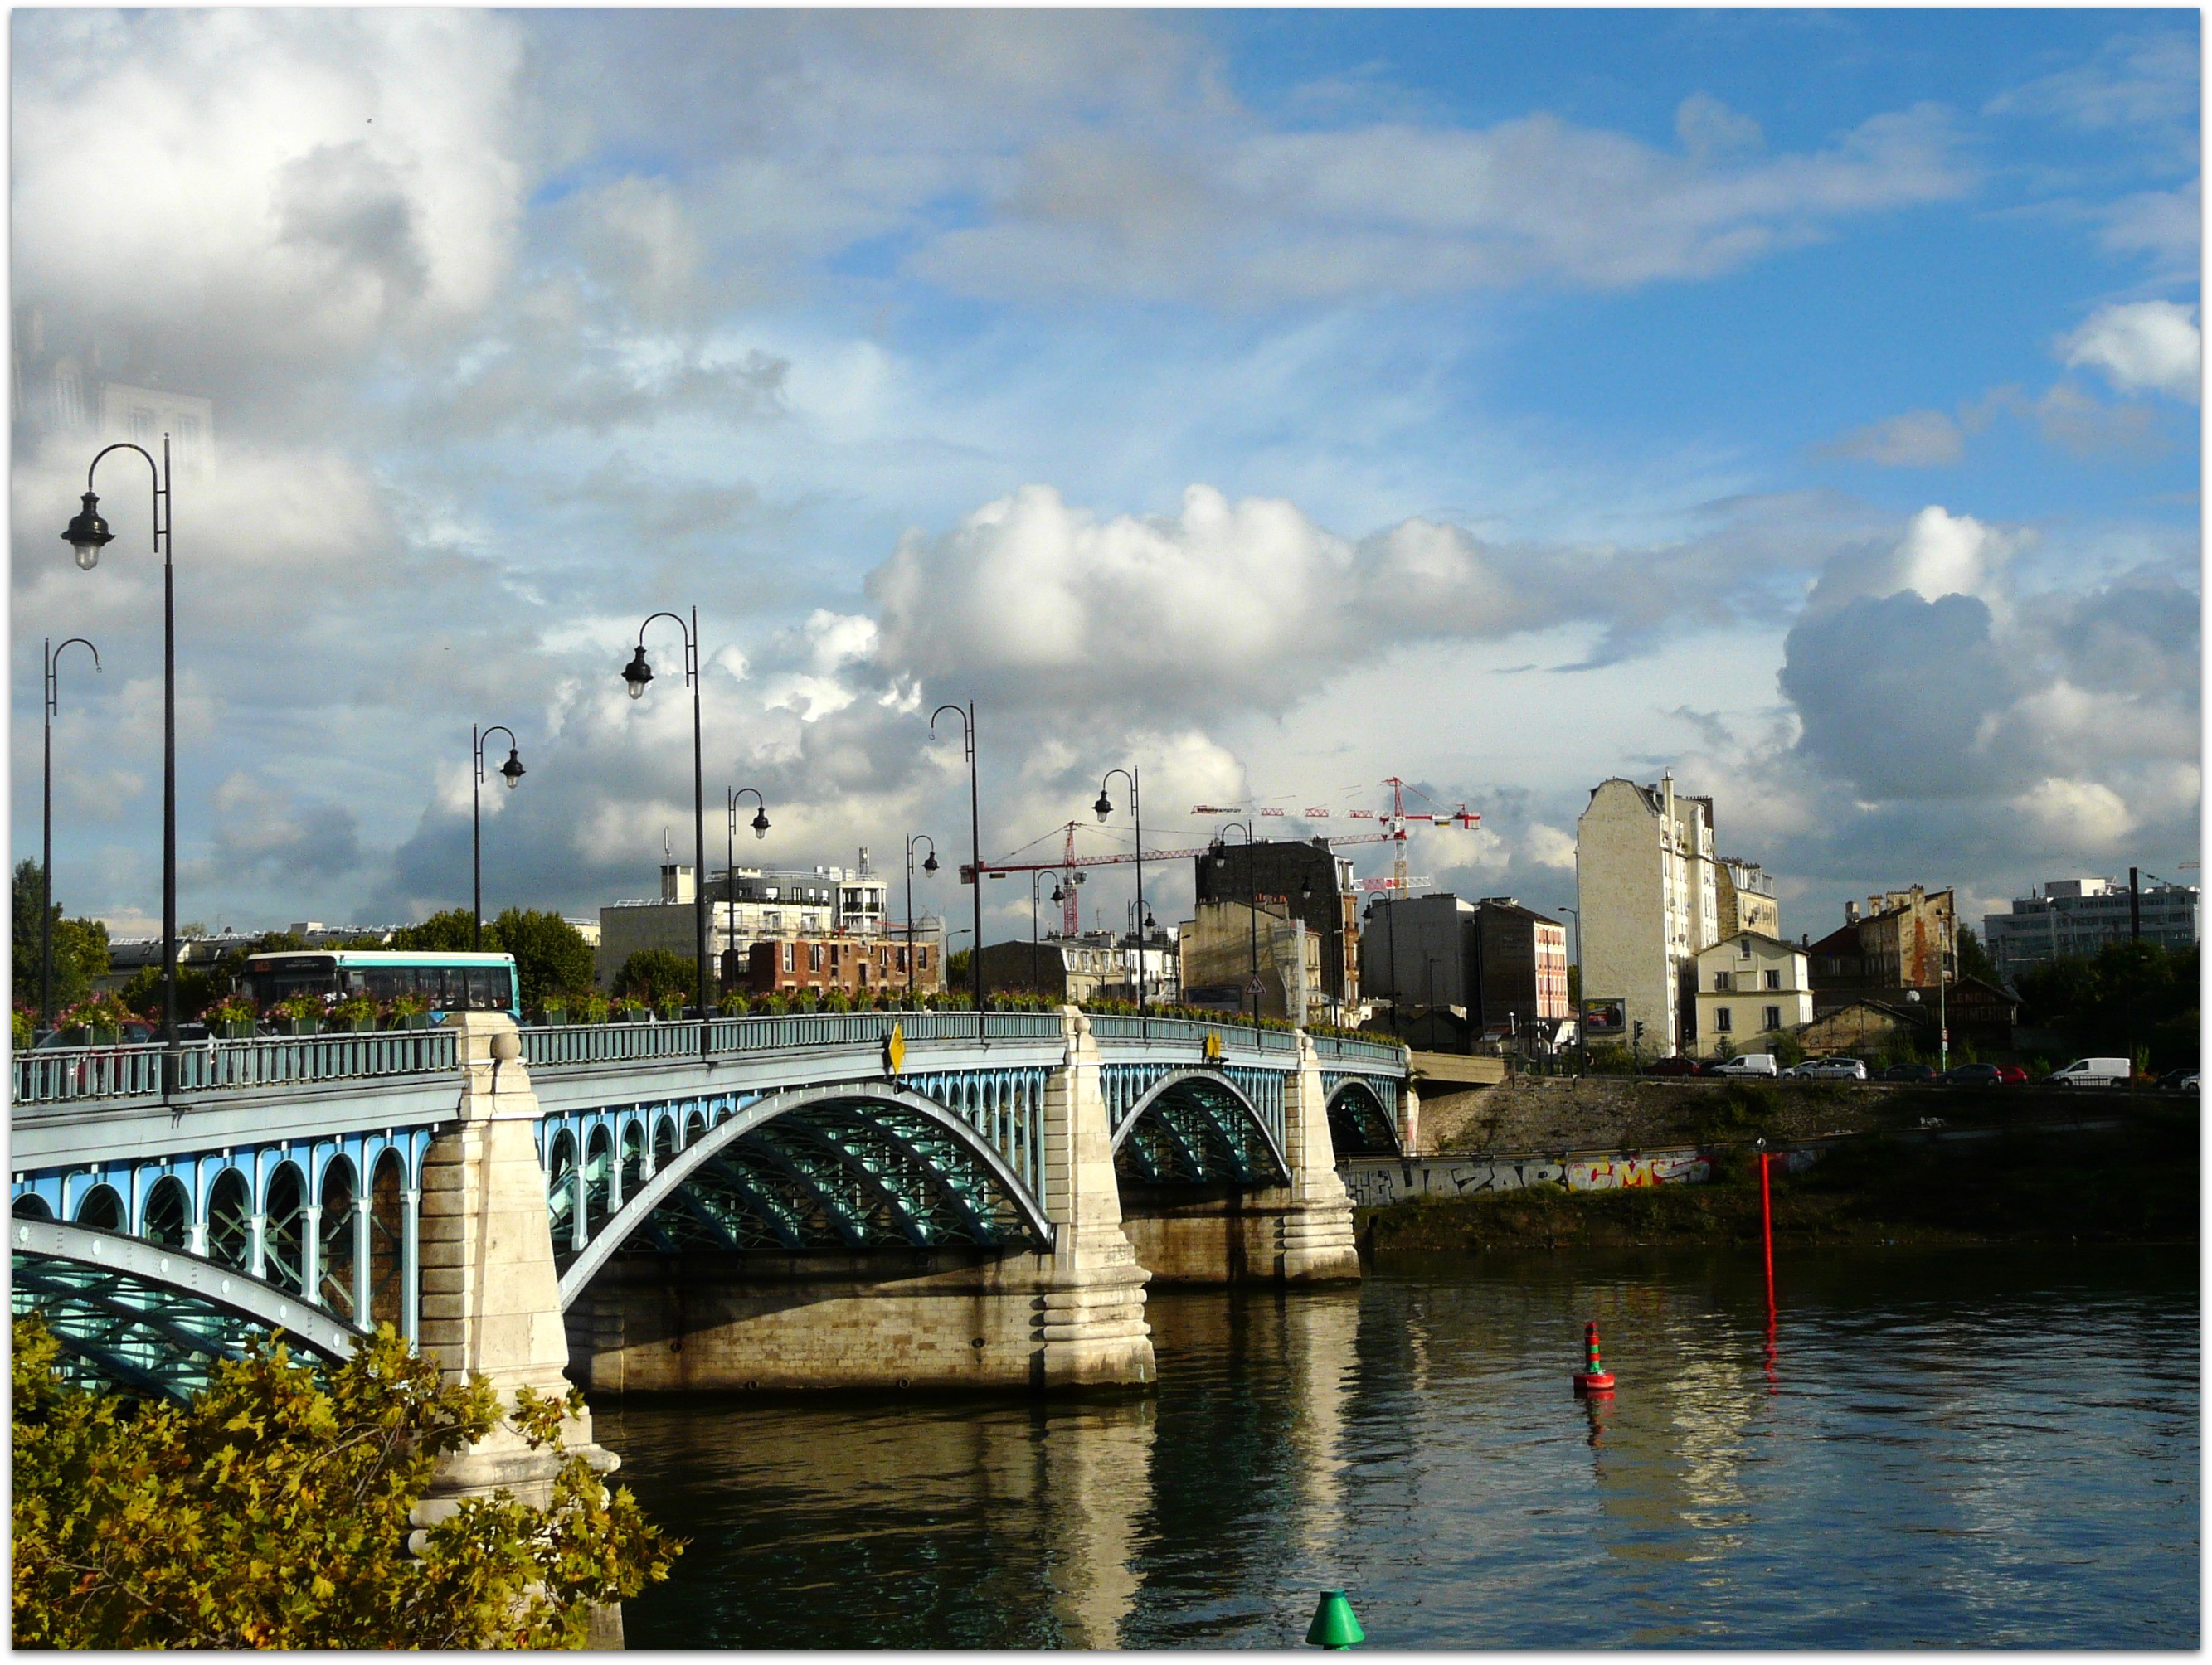
M1814 153L1739 157L1741 117L1688 111L1690 155L1555 115L1489 128L1086 133L1035 146L993 214L911 270L971 294L1035 290L1301 301L1551 281L1714 276L1836 221L1969 186L1936 106ZM1714 148L1719 144L1719 150Z

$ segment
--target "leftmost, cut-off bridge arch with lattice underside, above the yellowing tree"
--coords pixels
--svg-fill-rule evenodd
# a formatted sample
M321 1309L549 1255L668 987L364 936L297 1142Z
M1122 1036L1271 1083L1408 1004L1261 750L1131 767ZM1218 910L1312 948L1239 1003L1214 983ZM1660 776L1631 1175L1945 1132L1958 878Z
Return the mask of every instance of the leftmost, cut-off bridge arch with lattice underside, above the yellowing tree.
M51 1221L11 1221L15 1313L40 1313L71 1380L186 1397L219 1358L283 1329L294 1351L345 1358L358 1329L181 1249Z

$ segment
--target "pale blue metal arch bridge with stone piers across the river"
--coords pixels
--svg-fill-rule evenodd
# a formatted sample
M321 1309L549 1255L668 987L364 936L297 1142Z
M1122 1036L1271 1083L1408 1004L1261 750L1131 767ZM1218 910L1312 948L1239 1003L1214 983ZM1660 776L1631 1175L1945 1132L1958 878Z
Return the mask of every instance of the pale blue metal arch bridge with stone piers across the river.
M544 1355L564 1322L593 1386L849 1380L865 1347L894 1380L1146 1380L1159 1267L1124 1192L1183 1214L1225 1196L1245 1223L1261 1198L1272 1240L1219 1276L1354 1276L1336 1152L1396 1150L1409 1095L1396 1046L1073 1008L471 1015L219 1041L177 1081L164 1099L159 1048L15 1059L15 1307L71 1313L73 1369L135 1389L197 1380L274 1313L296 1338L316 1313L330 1347L392 1322L480 1355L502 1302ZM487 1198L533 1216L542 1267L502 1265ZM117 1245L144 1265L117 1271ZM243 1291L219 1316L192 1307L208 1278ZM137 1309L128 1347L102 1342L93 1311Z

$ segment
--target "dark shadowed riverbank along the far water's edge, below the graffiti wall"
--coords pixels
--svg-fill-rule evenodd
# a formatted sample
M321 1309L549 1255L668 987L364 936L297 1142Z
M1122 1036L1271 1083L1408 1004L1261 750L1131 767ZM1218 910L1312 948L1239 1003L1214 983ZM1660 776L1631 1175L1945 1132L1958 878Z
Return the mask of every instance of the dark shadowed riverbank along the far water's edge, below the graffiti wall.
M2119 1125L2000 1128L1986 1139L1865 1134L1801 1174L1772 1174L1774 1240L1790 1245L2199 1240L2194 1103L2126 1108ZM1761 1234L1750 1150L1712 1181L1613 1192L1533 1185L1358 1210L1363 1249L1469 1252L1747 1245Z

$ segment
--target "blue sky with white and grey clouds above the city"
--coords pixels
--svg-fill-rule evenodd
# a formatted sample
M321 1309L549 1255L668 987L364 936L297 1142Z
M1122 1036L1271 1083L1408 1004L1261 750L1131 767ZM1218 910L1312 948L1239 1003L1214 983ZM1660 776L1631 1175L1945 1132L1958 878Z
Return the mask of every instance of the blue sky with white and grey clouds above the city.
M1130 761L1152 847L1199 803L1347 829L1405 776L1482 811L1416 873L1553 907L1588 789L1672 767L1792 935L1887 884L2194 878L2194 13L15 11L11 44L13 845L40 639L88 635L55 884L122 931L159 911L159 570L115 462L108 559L55 537L91 442L22 389L60 354L215 405L177 486L210 926L467 904L471 723L529 765L487 904L646 893L690 847L677 635L641 703L619 670L692 606L714 862L730 785L754 858L964 851L929 712L973 699L987 856ZM949 878L925 911L964 915Z

